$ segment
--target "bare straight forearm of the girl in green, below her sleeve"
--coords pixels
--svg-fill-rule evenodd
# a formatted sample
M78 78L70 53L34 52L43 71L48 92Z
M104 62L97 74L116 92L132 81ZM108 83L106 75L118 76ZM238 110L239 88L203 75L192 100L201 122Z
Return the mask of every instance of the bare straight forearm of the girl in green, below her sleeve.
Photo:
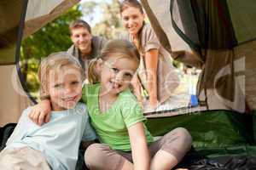
M147 139L144 133L143 122L128 127L131 142L131 155L135 170L148 170L150 157L148 152Z

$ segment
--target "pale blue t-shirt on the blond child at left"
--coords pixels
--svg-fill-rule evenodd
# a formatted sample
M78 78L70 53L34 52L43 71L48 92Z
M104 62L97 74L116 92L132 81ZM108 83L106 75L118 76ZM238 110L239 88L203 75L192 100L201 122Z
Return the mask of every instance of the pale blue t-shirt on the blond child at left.
M52 111L50 121L42 127L27 116L31 109L23 111L6 149L29 146L41 151L52 169L75 169L81 139L96 139L86 106L78 103L74 109Z

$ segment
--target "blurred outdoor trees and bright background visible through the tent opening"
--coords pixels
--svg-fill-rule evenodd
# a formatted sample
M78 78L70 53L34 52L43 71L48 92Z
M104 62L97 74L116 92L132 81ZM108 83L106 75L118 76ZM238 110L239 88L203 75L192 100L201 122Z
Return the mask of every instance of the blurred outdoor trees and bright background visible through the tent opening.
M69 23L81 18L90 24L93 35L108 39L119 37L124 32L119 6L119 0L82 0L78 5L70 8L67 13L23 39L20 48L21 72L33 97L38 98L37 72L40 60L51 53L66 51L72 45L68 30ZM192 93L194 90L191 90L191 87L195 87L197 76L194 76L192 80L189 76L191 73L189 68L177 61L173 61L173 65L177 67L178 75L183 83L183 88L179 90ZM194 71L193 74L195 73L197 72Z

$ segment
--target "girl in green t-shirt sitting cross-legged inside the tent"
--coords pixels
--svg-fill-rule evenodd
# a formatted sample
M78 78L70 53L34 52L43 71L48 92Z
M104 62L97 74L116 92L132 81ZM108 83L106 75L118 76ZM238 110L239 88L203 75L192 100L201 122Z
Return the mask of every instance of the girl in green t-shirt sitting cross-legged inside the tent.
M189 133L181 127L156 141L148 132L143 124L146 118L129 89L138 65L137 48L122 40L107 42L101 57L90 64L99 71L100 82L85 86L82 99L101 142L85 151L90 170L171 169L191 146ZM89 72L91 76L95 75ZM44 104L38 106L45 111Z

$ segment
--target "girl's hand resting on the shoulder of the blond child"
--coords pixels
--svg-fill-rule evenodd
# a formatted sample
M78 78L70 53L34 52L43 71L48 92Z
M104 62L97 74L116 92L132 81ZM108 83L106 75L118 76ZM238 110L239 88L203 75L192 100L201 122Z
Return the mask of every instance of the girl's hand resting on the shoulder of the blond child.
M28 114L32 122L41 126L44 122L49 122L50 118L50 102L49 99L44 99L38 105L34 105L32 111Z

